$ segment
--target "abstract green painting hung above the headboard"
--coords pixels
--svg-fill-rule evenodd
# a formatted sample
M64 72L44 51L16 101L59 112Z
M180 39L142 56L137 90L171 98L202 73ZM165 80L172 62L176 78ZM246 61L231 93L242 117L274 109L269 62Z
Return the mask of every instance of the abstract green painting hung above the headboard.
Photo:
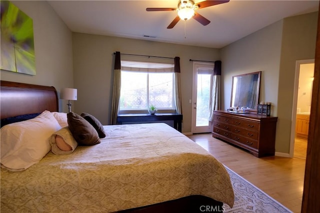
M32 19L1 0L1 69L35 75Z

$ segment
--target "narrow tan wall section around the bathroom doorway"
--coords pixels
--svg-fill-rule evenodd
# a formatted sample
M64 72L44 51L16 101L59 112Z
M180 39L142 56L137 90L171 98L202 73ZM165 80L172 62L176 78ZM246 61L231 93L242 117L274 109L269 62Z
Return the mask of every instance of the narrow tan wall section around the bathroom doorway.
M313 59L317 12L283 19L275 150L288 153L296 60ZM295 112L294 112L295 113Z

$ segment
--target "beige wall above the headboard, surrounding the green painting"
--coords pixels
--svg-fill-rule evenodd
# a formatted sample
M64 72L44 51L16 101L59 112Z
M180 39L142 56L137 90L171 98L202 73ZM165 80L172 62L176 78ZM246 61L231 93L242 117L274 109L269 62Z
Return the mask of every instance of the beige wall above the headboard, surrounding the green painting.
M1 80L54 86L57 91L72 87L71 31L46 1L11 2L33 20L36 75L1 70ZM59 105L60 111L67 111L66 101Z

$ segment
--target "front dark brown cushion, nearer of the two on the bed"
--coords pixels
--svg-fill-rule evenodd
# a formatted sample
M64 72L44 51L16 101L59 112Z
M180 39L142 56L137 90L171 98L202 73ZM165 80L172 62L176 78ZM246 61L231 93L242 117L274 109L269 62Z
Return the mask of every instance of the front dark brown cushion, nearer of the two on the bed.
M79 145L91 146L100 143L98 133L84 118L74 112L67 115L69 130Z

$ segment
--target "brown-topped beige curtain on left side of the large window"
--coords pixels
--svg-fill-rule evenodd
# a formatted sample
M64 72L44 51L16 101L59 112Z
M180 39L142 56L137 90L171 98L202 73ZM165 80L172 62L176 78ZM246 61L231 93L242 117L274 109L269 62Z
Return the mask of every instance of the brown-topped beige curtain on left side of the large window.
M116 124L116 119L119 112L119 104L120 104L120 89L121 89L121 59L120 59L120 52L115 52L112 106L111 106L111 124Z

